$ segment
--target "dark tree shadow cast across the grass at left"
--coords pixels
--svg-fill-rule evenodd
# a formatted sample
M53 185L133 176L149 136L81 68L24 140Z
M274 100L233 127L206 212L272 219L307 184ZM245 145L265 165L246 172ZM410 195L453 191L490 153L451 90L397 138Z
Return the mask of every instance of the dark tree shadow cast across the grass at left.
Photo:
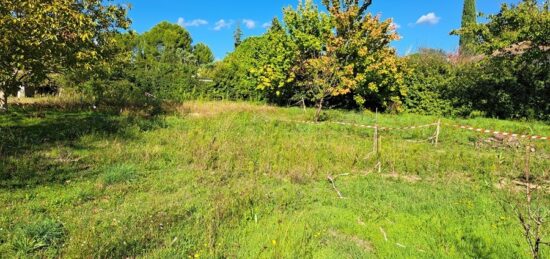
M92 150L79 141L131 138L130 127L151 130L158 119L136 119L85 111L14 110L0 115L0 188L62 184L93 174L93 161L82 161L74 151ZM55 149L55 154L48 152Z

